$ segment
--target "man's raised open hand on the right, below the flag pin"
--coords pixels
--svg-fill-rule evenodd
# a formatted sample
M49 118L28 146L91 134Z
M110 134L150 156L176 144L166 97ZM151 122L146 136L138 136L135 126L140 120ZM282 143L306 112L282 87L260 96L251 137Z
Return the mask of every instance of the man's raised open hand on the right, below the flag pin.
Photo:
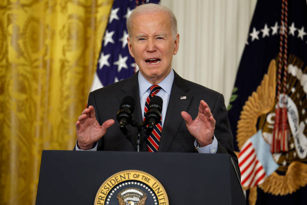
M192 120L192 117L185 111L181 112L181 116L186 121L190 134L196 138L200 147L205 147L212 143L216 121L204 100L200 101L198 115L195 120Z

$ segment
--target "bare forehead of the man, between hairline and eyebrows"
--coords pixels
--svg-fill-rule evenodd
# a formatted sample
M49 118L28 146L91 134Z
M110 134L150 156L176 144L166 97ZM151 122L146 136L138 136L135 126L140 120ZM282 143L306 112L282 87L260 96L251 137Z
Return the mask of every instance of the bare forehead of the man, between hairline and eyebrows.
M134 34L167 34L171 32L171 17L167 12L136 14L131 21L131 31Z

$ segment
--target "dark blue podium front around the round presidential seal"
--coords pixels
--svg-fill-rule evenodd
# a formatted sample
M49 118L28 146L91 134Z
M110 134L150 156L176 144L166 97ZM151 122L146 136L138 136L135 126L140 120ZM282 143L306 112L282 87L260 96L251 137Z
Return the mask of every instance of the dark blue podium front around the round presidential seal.
M124 170L154 176L172 205L245 204L228 154L52 150L42 154L36 204L92 205L101 184Z

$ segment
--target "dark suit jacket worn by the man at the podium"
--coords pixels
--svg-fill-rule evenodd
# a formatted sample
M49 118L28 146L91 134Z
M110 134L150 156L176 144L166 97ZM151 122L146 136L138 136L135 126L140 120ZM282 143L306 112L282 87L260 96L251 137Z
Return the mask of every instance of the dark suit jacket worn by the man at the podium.
M107 130L106 134L98 141L97 150L135 150L134 143L131 143L121 133L119 123L116 120L116 114L123 97L130 95L135 99L132 120L137 123L142 122L141 112L143 111L141 111L140 107L137 74L138 73L134 74L128 79L90 92L88 106L93 106L95 108L95 115L99 124L101 125L108 119L115 120L115 124L112 125ZM181 99L181 96L186 96L186 98ZM207 102L216 120L214 134L218 140L217 153L230 154L237 166L237 171L239 171L238 159L233 152L233 138L223 95L202 85L185 80L176 72L163 125L159 152L197 152L194 146L195 138L189 133L186 123L181 117L181 111L188 112L192 116L192 119L195 119L202 99ZM128 125L127 128L134 138L137 135L137 129L130 125ZM145 136L144 133L143 136ZM143 140L140 146L140 151L147 151L145 140Z

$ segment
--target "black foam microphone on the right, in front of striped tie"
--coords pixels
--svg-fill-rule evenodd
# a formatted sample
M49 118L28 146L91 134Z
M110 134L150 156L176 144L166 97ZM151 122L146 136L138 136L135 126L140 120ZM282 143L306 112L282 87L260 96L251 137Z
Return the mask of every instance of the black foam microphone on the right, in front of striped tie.
M148 111L145 115L145 123L148 124L148 128L146 129L146 133L150 134L154 129L155 125L157 125L161 120L161 112L162 112L163 100L161 97L154 95L148 106Z

